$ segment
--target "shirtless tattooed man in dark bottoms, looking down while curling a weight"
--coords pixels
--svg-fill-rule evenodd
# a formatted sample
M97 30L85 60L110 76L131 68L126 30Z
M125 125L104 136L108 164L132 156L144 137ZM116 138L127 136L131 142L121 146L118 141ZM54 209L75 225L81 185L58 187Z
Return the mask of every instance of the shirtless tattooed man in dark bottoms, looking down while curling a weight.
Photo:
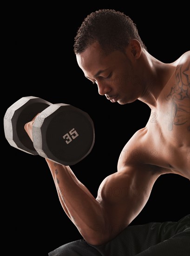
M151 116L124 146L118 169L100 184L97 198L69 166L46 159L61 205L84 238L49 256L189 255L190 216L179 222L129 224L144 208L160 175L190 179L190 51L163 63L148 53L129 17L99 10L79 28L74 52L100 95L119 104L143 101ZM25 125L31 139L32 124ZM147 150L155 157L147 157ZM106 193L113 188L119 189L117 196ZM134 189L136 196L130 193Z

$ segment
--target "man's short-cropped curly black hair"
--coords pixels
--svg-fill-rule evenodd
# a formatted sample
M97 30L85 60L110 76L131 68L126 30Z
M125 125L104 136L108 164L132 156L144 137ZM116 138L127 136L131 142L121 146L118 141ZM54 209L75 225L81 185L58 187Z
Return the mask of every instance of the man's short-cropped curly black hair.
M124 52L131 39L137 39L146 49L130 17L112 9L100 9L90 13L79 27L74 39L74 53L80 54L97 42L105 54L114 50Z

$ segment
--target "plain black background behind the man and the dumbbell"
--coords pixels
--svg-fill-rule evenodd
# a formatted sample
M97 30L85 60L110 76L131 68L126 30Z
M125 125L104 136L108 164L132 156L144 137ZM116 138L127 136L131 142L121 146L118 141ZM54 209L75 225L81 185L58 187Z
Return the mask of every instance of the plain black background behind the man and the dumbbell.
M100 8L124 12L136 23L149 53L165 63L175 61L189 50L189 14L185 7L89 3L83 10L84 6L82 2L73 3L72 7L27 4L7 7L5 12L1 211L5 216L3 240L11 244L7 248L9 255L19 252L46 256L60 245L82 238L59 203L45 159L8 144L3 116L9 106L21 97L38 96L52 103L71 104L92 117L94 147L72 170L95 197L100 182L117 170L125 143L149 119L150 108L144 103L135 101L121 106L106 101L84 77L73 53L73 43L85 16ZM183 201L188 202L189 192L187 179L179 175L161 176L148 203L131 224L177 221L189 214L189 203Z

